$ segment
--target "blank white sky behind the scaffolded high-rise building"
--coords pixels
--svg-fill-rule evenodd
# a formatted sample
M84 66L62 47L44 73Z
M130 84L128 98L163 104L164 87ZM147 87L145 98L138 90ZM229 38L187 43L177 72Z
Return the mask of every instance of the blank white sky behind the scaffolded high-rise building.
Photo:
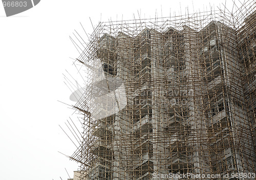
M70 117L78 124L74 110L61 102L74 104L63 74L79 56L69 36L82 30L80 23L91 34L100 20L133 19L138 13L168 17L218 9L222 3L41 0L10 17L0 5L0 179L60 180L79 168L63 155L76 147L59 125L65 128Z

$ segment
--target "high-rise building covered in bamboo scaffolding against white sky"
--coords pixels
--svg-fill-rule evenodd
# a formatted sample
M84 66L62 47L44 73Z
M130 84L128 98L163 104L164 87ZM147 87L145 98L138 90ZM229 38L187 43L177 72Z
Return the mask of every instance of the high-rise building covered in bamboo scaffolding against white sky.
M77 35L79 179L255 179L255 10L100 22L85 48Z

